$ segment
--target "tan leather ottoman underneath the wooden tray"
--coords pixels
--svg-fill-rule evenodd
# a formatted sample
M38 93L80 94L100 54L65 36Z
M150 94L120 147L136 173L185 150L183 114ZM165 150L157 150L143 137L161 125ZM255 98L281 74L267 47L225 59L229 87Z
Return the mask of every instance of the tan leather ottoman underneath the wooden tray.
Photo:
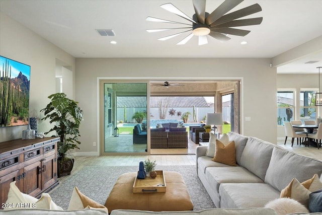
M133 193L136 172L125 173L116 181L105 206L114 209L150 211L193 210L193 204L182 176L177 172L164 171L167 191Z

